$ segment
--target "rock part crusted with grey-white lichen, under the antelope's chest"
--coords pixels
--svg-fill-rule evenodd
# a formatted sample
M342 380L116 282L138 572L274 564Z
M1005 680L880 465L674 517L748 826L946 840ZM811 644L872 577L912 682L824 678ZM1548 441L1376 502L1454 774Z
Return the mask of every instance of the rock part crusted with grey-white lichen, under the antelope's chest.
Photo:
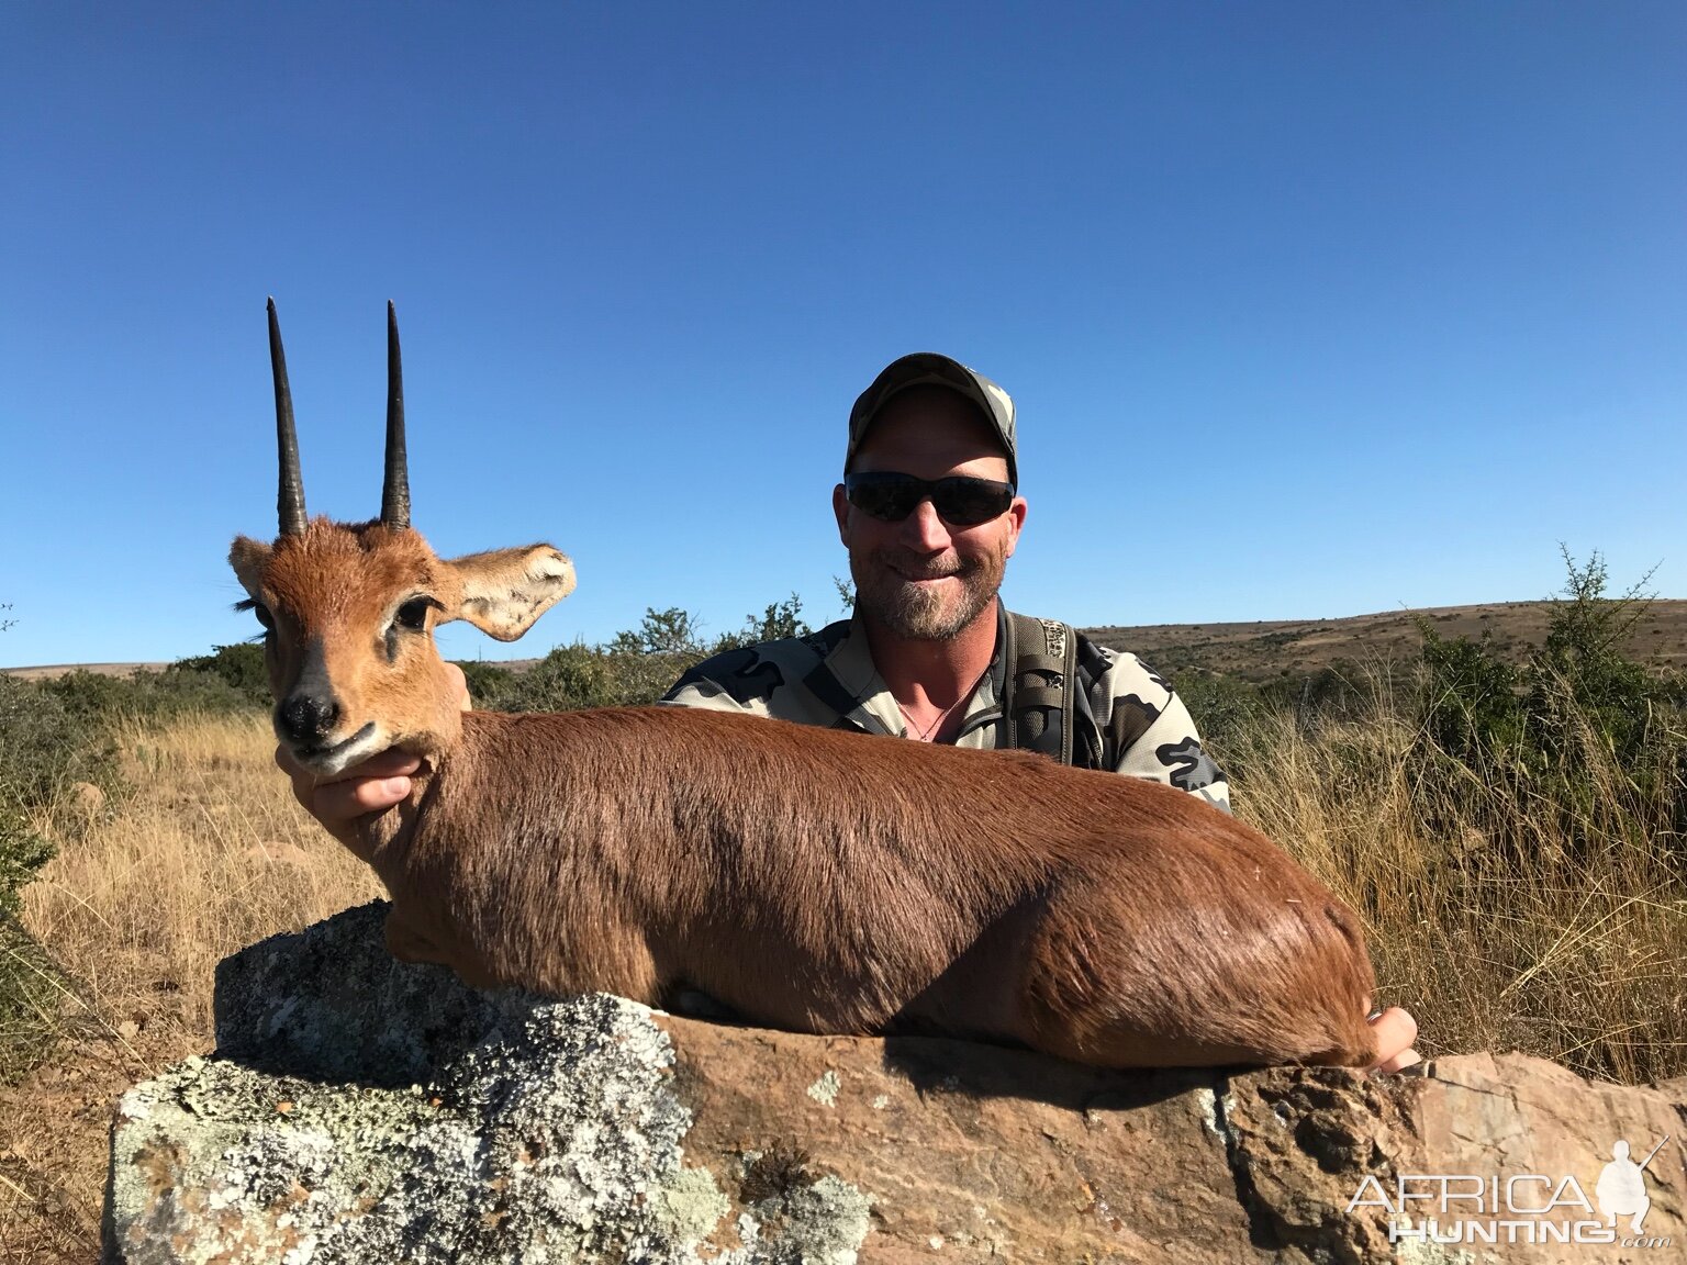
M646 1007L467 990L391 961L380 912L223 965L218 1058L118 1105L108 1258L855 1260L869 1199L835 1179L725 1225Z

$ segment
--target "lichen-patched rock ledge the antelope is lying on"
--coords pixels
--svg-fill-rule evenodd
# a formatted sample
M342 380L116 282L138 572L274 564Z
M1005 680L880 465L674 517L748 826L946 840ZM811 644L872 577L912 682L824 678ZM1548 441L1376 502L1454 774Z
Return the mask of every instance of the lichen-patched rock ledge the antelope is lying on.
M388 958L383 914L223 963L216 1056L118 1106L105 1260L1687 1260L1682 1083L1486 1054L1127 1074L727 1027L474 992ZM1609 1226L1613 1144L1665 1137L1641 1231Z

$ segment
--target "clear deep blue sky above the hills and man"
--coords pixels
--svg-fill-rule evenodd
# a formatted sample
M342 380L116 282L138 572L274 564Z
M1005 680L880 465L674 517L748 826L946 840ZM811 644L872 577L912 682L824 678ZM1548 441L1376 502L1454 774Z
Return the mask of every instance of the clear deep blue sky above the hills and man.
M263 302L314 513L550 540L542 654L847 563L850 401L1019 405L1016 609L1687 595L1687 7L0 8L0 665L256 631ZM462 627L462 626L459 626Z

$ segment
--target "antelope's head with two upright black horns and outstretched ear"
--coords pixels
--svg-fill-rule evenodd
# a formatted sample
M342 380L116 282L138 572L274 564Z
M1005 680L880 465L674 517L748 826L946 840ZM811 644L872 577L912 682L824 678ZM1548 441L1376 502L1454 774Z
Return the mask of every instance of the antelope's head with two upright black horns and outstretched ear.
M440 558L410 526L398 319L386 305L386 481L369 523L307 518L299 439L275 300L270 366L280 449L280 535L236 536L229 565L263 624L275 734L294 759L331 776L388 747L437 756L462 715L434 629L467 619L515 641L574 590L574 563L550 545Z

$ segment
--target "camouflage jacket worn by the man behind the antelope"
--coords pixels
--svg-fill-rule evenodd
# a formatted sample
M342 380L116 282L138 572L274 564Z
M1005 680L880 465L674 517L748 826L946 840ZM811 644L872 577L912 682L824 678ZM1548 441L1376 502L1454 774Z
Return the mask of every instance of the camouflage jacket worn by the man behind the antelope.
M1000 604L997 611L995 659L967 700L957 747L1000 747L1005 740L1005 611ZM1230 786L1201 749L1189 708L1142 659L1080 636L1078 685L1075 737L1100 752L1102 767L1166 783L1230 811ZM849 619L806 638L764 641L703 659L661 702L908 737L903 710L874 668L867 636Z

